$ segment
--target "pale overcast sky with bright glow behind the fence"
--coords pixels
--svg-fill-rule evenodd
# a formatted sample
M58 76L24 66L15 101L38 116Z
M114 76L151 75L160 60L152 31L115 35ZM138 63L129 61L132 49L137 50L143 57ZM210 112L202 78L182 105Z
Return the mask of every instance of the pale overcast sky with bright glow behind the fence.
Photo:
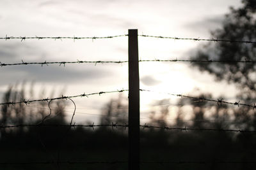
M209 32L221 26L229 7L240 5L239 0L1 0L0 36L114 36L127 34L128 29L138 29L139 34L211 38ZM140 37L140 59L188 59L200 43ZM72 39L0 41L2 63L77 59L127 60L127 37L75 42ZM127 64L67 64L65 67L56 64L0 69L0 95L8 85L24 80L35 81L37 92L42 87L49 92L55 88L56 97L63 89L65 96L69 96L128 88ZM215 82L208 74L196 71L190 64L182 63L141 63L140 79L141 89L175 94L195 94L195 89L202 92L218 89L214 92L214 97L218 97L227 89L234 90L234 87ZM111 97L116 94L74 100L78 110L81 108L79 112L98 114L99 108ZM163 97L166 96L141 93L141 110L147 111L148 104ZM68 107L72 108L72 105ZM96 118L77 114L74 122L96 121Z

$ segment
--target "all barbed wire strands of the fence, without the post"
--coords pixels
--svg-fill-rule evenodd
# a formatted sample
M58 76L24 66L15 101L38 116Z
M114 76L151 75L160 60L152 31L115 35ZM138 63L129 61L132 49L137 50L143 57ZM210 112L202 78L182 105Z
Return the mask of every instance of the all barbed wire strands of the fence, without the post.
M123 34L123 35L117 35L117 36L102 36L102 37L70 37L70 36L56 36L56 37L49 37L49 36L35 36L35 37L26 37L26 36L20 36L20 37L13 37L13 36L5 36L5 37L0 37L0 39L3 40L11 40L11 39L20 39L20 41L25 41L26 39L109 39L109 38L118 38L118 37L125 37L129 36L128 34ZM241 41L241 40L233 40L233 39L218 39L218 38L212 38L212 39L200 39L200 38L177 38L177 37L168 37L168 36L150 36L150 35L138 35L144 38L160 38L160 39L174 39L174 40L192 40L192 41L214 41L214 42L223 42L223 43L250 43L250 44L256 44L255 41ZM108 63L113 63L113 64L122 64L122 63L128 63L128 60L119 60L119 61L103 61L103 60L95 60L95 61L89 61L89 60L76 60L76 61L54 61L54 62L47 62L46 60L44 62L16 62L16 63L3 63L0 62L0 66L20 66L20 65L39 65L39 66L48 66L49 64L59 64L59 66L65 64L108 64ZM182 59L170 59L170 60L162 60L162 59L154 59L154 60L139 60L139 62L223 62L223 63L250 63L250 64L255 64L255 60L182 60ZM140 89L141 92L154 92L152 90L145 90L145 89ZM95 96L95 95L101 95L101 94L109 94L109 93L117 93L117 92L129 92L129 90L114 90L114 91L101 91L101 92L94 92L90 94L79 94L79 95L74 95L74 96L61 96L61 97L54 97L54 98L45 98L45 99L24 99L23 101L8 101L6 103L0 103L0 106L7 105L7 106L14 106L15 104L26 104L29 105L31 103L35 102L46 102L49 106L50 113L46 117L42 119L42 122L38 124L17 124L17 125L0 125L0 129L9 129L9 128L19 128L19 127L86 127L90 129L95 129L96 127L111 127L111 129L117 129L117 128L123 128L124 131L129 128L129 124L118 124L117 122L112 122L112 124L99 124L95 125L93 124L88 124L88 125L76 125L72 124L72 120L74 118L74 115L76 113L76 104L74 101L72 101L71 98L75 97L89 97L89 96ZM229 104L233 106L244 106L247 108L252 108L254 110L256 108L255 103L253 104L246 104L246 103L240 103L240 101L235 101L235 102L230 102L230 101L223 101L223 99L207 99L205 97L193 97L193 96L186 96L182 94L170 94L170 93L163 93L163 92L157 92L160 94L168 94L170 96L175 96L175 97L185 97L188 99L195 99L198 102L202 101L209 101L212 103L218 104L218 106L221 106L222 104ZM70 99L75 106L74 113L72 115L72 119L70 120L70 124L44 124L44 120L49 118L51 116L51 106L50 103L51 101L55 100L61 100L61 99ZM154 125L140 125L141 130L144 129L163 129L166 131L212 131L212 132L239 132L239 133L246 133L246 134L256 134L256 131L252 130L241 130L241 129L204 129L204 128L189 128L189 127L167 127L167 126L154 126ZM58 160L57 162L54 161L46 161L46 162L0 162L0 164L124 164L127 163L127 160L117 160L117 161L60 161ZM150 162L150 161L140 161L141 164L207 164L209 162L205 161L168 161L168 162ZM239 161L217 161L216 163L218 164L241 164L241 163L246 163L246 164L256 164L255 161L252 162L239 162Z

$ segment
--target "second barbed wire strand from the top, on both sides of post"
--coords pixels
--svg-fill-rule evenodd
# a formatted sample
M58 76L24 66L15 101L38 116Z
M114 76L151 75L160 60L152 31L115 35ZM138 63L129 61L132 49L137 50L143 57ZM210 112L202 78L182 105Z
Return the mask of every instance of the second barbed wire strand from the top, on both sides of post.
M88 60L77 60L77 61L54 61L54 62L47 62L46 60L44 62L18 62L18 63L3 63L0 62L0 66L19 66L19 65L32 65L32 64L38 64L41 66L48 66L48 64L60 64L65 66L65 64L80 64L80 63L92 63L95 64L107 64L107 63L115 63L115 64L122 64L129 62L128 60L119 60L119 61L104 61L104 60L96 60L96 61L88 61ZM243 63L256 63L255 60L180 60L180 59L172 59L172 60L160 60L160 59L154 59L154 60L139 60L139 62L223 62L223 63L237 63L237 62L243 62Z

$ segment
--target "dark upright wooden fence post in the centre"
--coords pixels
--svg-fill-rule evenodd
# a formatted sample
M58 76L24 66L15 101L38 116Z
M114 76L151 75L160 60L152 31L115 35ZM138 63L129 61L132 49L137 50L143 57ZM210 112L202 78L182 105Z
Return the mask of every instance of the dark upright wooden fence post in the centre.
M138 30L129 29L129 170L140 169L140 76Z

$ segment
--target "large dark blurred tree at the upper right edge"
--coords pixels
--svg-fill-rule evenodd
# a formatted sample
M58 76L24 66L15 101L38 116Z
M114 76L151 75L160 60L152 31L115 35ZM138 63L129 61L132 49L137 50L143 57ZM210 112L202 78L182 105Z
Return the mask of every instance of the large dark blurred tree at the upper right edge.
M237 41L256 41L256 1L243 0L241 8L230 8L225 16L221 29L212 31L212 36L218 39ZM200 60L255 60L256 45L249 43L208 43L196 52L192 59ZM195 63L200 71L207 71L217 80L236 83L243 93L244 99L256 97L255 64L250 63Z

